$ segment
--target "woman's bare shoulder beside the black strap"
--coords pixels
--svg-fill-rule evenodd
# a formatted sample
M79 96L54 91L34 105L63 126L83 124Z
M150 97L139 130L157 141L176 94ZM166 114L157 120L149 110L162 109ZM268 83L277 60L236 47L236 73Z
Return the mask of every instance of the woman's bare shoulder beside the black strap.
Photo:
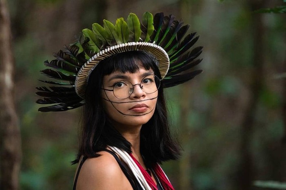
M85 160L78 175L76 190L130 189L131 185L115 158L105 151L99 154L97 158Z

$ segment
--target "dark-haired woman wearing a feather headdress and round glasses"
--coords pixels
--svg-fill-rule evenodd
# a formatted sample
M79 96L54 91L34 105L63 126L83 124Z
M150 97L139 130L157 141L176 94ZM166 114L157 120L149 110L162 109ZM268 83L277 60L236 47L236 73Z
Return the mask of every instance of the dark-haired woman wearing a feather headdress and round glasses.
M43 73L70 83L44 82L73 86L37 88L45 97L38 103L56 103L39 110L84 105L74 189L174 189L158 165L180 155L169 133L163 87L201 73L190 71L201 62L195 58L202 47L189 50L198 37L180 42L188 26L162 13L154 19L144 13L142 25L133 13L127 23L103 23L84 29L78 43L45 62L57 70Z

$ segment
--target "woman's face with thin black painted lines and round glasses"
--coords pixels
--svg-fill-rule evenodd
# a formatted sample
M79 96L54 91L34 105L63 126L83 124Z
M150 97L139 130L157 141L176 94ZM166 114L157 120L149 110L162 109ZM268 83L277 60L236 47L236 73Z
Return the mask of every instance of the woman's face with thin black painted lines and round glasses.
M103 77L103 107L115 126L140 126L150 120L158 97L152 76L153 70L140 68L136 73L113 72Z

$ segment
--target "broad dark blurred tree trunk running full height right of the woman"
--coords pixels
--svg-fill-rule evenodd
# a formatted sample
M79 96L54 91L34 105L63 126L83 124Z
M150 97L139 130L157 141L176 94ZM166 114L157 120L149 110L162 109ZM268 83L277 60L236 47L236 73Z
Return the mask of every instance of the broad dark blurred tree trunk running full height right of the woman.
M250 97L248 107L245 111L245 117L241 128L241 143L240 143L240 163L239 163L239 189L250 190L253 189L253 160L251 157L251 139L252 131L255 125L255 112L258 105L259 94L263 86L263 34L264 27L262 23L262 15L253 13L263 7L264 1L252 0L247 1L249 10L252 12L250 30L252 39L252 69L250 72Z

